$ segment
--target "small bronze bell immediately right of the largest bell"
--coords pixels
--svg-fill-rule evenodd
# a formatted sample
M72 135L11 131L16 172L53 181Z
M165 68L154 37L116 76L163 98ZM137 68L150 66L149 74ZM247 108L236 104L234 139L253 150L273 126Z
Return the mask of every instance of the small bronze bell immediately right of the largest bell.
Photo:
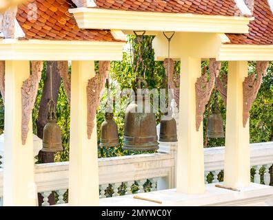
M170 114L163 115L160 124L160 142L177 142L176 121Z

